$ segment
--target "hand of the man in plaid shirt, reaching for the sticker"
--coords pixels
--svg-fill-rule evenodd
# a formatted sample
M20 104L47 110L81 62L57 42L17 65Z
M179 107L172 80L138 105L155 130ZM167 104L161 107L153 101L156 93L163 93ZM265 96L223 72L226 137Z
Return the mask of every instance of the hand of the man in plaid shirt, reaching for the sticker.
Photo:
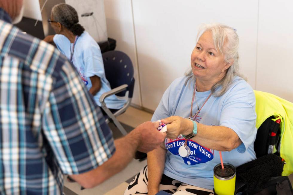
M159 132L158 127L159 122L148 121L138 125L137 128L132 130L131 133L133 133L139 141L138 151L147 153L160 147L161 143L165 140L166 133Z

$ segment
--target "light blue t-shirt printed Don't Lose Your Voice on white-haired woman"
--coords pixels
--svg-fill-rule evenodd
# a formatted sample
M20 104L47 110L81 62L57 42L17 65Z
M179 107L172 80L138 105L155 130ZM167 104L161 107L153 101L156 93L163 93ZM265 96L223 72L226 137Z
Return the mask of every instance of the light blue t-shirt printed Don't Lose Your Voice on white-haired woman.
M194 79L180 77L172 82L165 91L152 121L169 116L190 116L193 97ZM196 92L193 102L193 114L210 95L210 91ZM225 126L233 129L242 144L229 152L222 152L224 162L235 167L256 159L254 140L257 129L255 127L255 96L251 86L239 77L234 78L233 84L220 97L211 96L200 110L196 121L205 125ZM219 151L205 148L192 140L188 140L190 156L181 157L178 148L184 144L184 138L179 136L175 140L166 139L167 148L164 174L178 181L201 188L213 189L213 168L220 163Z

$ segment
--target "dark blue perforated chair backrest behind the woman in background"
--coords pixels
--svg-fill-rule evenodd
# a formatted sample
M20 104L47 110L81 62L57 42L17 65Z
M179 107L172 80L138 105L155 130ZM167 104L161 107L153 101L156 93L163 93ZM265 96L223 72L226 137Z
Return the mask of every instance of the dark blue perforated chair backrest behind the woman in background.
M134 88L134 69L131 59L122 51L107 51L102 54L106 79L109 81L111 88L127 84L125 91L117 93L117 96L125 96L129 91L128 97L132 97Z

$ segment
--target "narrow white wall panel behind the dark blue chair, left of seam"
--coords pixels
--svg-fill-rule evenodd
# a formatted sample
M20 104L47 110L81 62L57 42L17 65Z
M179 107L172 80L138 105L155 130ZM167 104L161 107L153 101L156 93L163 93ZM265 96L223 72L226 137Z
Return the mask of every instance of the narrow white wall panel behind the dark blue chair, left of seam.
M135 86L132 103L141 106L132 2L131 0L106 0L105 13L108 37L116 40L116 50L125 52L133 63Z

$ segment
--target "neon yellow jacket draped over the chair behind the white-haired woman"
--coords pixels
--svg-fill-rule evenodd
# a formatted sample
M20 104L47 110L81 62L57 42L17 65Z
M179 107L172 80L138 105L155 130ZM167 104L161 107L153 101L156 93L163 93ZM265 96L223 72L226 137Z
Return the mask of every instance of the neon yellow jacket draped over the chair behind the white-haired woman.
M254 90L256 128L270 116L280 118L280 156L285 159L283 176L293 173L293 103L271 93Z

